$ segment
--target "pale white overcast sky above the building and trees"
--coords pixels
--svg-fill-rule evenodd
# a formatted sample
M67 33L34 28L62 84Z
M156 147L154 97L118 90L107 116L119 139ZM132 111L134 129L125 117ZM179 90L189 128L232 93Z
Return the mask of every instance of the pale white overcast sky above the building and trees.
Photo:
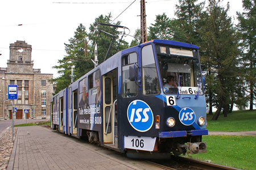
M64 3L57 3L64 2ZM79 2L79 3L77 3ZM134 0L1 0L0 1L0 67L7 67L10 57L10 44L17 40L32 45L34 69L41 73L59 76L52 66L58 65L58 59L65 56L65 45L74 36L80 23L89 31L89 25L102 15L110 12L115 19ZM229 16L236 18L236 11L243 11L242 0L224 0L230 2ZM177 0L146 0L146 24L154 24L155 16L166 13L175 18ZM140 27L140 0L136 0L114 22L130 29L134 35ZM236 23L236 20L234 20ZM22 24L22 25L19 25ZM125 37L130 42L131 37Z

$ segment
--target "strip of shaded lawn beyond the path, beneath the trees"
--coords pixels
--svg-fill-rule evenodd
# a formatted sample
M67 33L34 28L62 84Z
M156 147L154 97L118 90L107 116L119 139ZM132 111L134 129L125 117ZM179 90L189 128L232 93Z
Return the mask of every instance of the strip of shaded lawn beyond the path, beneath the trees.
M207 123L209 131L253 131L256 130L256 110L233 111L228 117L220 114L217 121L212 121L212 115L207 114Z

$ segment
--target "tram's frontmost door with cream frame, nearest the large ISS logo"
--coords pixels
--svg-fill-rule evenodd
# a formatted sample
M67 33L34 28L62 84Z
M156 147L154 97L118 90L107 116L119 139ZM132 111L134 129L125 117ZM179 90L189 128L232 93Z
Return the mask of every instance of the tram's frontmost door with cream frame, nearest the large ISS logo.
M117 75L116 70L102 76L102 93L103 93L103 132L104 143L113 143L117 146ZM116 127L115 127L116 126Z

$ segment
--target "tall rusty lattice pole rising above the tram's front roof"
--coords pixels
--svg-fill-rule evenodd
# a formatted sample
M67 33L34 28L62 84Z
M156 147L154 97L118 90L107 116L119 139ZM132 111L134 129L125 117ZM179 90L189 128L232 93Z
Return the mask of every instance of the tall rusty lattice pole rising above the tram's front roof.
M145 0L141 0L141 40L142 43L147 41Z

